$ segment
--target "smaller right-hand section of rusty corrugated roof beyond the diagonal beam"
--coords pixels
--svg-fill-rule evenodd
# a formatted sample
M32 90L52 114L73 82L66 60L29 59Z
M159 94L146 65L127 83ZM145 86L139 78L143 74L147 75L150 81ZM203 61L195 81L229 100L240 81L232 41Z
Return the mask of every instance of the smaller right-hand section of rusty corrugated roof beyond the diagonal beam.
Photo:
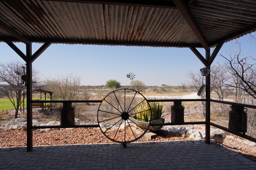
M189 9L208 42L256 23L255 0L194 0Z

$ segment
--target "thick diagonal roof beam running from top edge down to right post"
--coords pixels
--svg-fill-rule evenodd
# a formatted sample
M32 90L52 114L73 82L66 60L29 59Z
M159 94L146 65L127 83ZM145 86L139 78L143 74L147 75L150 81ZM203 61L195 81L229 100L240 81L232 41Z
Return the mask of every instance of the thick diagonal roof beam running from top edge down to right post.
M206 39L204 38L201 30L197 26L192 14L189 11L189 8L185 4L185 2L183 0L173 0L173 2L175 3L176 7L178 7L180 13L183 15L184 19L189 24L189 26L192 29L192 31L194 32L195 36L197 36L197 38L199 39L199 41L202 44L202 46L204 47L204 49L206 51L208 51L210 49L209 45L208 45Z

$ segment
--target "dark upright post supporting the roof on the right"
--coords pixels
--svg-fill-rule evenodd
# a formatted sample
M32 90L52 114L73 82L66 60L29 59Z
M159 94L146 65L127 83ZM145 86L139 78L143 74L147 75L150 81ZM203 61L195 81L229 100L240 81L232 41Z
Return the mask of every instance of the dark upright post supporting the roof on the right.
M210 58L210 51L206 51L206 60L208 61ZM211 66L206 66L206 68L208 68L209 70L211 70ZM206 144L210 144L210 121L211 121L211 73L209 73L206 76L206 116L205 116L205 121L207 122L206 124L206 132L205 132L205 142Z

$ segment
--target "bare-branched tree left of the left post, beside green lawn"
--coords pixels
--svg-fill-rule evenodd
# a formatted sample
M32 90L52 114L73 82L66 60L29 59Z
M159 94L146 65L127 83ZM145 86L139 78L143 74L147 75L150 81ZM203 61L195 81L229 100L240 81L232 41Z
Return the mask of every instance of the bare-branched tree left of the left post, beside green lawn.
M21 76L24 74L23 68L25 63L21 61L12 61L9 63L0 63L0 93L7 96L15 108L15 116L17 118L21 103L22 95L26 96L26 86L22 83ZM38 82L37 73L33 71L33 82Z

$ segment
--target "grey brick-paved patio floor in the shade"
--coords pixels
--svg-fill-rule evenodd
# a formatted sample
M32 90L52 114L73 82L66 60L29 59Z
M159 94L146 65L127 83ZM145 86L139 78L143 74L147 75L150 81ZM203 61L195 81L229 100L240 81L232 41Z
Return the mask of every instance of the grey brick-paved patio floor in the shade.
M256 163L212 143L172 141L0 148L4 170L254 170Z

